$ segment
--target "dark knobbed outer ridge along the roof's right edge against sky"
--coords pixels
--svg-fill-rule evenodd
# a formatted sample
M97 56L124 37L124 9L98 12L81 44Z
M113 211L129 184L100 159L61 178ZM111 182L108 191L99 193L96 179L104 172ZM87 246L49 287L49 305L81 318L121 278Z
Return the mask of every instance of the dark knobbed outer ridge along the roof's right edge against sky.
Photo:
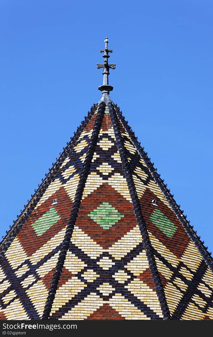
M208 252L207 248L205 247L204 241L200 240L200 237L197 236L197 231L193 230L193 226L190 225L190 221L186 220L186 215L183 215L183 210L180 210L180 205L177 205L176 201L174 200L174 194L170 193L170 189L167 188L167 184L164 184L164 179L160 178L160 174L157 173L157 168L154 167L154 163L151 162L151 158L148 158L147 152L144 151L144 147L141 147L137 140L138 137L135 136L135 132L132 131L132 128L128 125L128 121L125 120L125 117L122 115L122 111L120 111L120 108L117 107L116 109L119 114L117 114L118 118L124 121L126 124L123 125L123 127L126 129L128 135L130 136L130 139L135 146L135 148L138 151L139 156L144 160L144 162L147 165L147 169L150 172L152 178L154 179L155 183L159 186L162 193L164 194L167 202L171 206L173 212L175 213L178 220L181 222L185 232L191 239L191 241L194 243L198 251L200 252L201 256L203 257L205 263L209 267L209 269L213 272L213 258L211 256L211 252ZM197 245L196 245L197 244ZM200 248L200 249L199 249Z

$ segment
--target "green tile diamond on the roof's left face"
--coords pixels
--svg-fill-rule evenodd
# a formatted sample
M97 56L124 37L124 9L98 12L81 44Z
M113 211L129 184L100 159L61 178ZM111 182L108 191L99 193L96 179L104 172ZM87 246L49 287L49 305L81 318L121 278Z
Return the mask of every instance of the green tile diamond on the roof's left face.
M58 215L55 207L52 207L49 209L49 211L47 211L40 218L38 218L38 220L32 223L32 227L37 236L40 236L60 219L61 217Z

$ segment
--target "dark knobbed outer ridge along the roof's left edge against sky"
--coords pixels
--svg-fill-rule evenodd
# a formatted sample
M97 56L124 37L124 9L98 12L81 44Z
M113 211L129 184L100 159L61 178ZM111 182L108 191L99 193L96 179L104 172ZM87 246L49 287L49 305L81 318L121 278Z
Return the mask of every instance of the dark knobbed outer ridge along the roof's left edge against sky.
M61 164L65 160L67 154L72 151L74 145L78 141L81 132L84 130L88 122L90 121L91 117L94 115L97 104L91 106L91 111L88 111L87 116L84 116L84 120L81 121L81 125L77 127L76 132L74 132L74 136L70 137L70 141L67 142L67 146L63 147L63 152L60 152L59 158L56 158L56 162L52 163L52 167L49 168L49 172L45 173L45 178L42 178L42 183L38 184L38 188L35 189L35 193L31 194L31 199L28 200L28 204L24 205L24 210L21 210L20 215L17 215L17 219L13 220L13 225L11 226L10 230L7 232L3 240L0 242L0 259L2 258L4 252L11 244L12 240L15 236L19 233L20 229L23 227L27 219L29 218L30 214L33 212L34 207L42 197L43 193L45 192L46 188L51 183L52 179L58 172L58 169L61 167ZM30 209L32 207L32 209ZM5 249L4 249L5 248Z

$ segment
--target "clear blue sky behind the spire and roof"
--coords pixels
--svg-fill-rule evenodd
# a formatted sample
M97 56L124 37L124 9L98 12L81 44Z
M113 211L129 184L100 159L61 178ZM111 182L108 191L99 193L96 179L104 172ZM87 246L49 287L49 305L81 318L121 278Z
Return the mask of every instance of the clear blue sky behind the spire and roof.
M213 1L0 1L0 236L101 97L111 98L213 253Z

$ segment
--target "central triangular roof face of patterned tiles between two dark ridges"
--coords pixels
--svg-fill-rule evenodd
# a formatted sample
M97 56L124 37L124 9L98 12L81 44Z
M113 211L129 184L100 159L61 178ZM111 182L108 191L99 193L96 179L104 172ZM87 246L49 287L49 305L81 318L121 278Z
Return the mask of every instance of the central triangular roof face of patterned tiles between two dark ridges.
M162 319L108 109L95 153L50 318Z

